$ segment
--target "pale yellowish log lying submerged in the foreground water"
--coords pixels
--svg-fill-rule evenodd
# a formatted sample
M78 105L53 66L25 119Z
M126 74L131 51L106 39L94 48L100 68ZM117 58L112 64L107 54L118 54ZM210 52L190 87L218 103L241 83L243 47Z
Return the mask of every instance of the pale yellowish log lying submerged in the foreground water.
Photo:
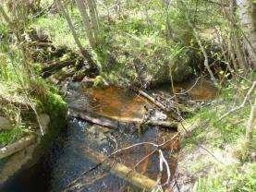
M113 165L113 161L111 159L106 159L106 157L104 157L104 155L100 152L86 149L84 154L87 158L91 159L92 162L101 163L104 169L110 169L112 174L117 175L118 177L128 181L134 186L138 186L140 188L151 191L153 186L156 185L156 181L143 174L139 174L133 171L133 169L128 168L122 163L115 163Z

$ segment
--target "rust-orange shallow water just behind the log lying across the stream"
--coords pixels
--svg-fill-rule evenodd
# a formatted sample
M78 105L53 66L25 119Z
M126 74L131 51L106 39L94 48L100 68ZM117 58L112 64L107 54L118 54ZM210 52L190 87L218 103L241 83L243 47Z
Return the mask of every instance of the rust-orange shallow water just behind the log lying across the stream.
M83 90L90 100L91 111L114 118L142 118L147 100L122 88L109 86Z

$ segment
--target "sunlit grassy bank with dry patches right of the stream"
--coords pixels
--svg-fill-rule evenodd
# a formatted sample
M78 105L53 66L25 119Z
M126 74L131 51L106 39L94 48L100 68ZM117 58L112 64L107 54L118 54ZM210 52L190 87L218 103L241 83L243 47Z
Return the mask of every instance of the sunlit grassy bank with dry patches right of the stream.
M250 89L246 81L230 81L227 85L218 98L186 119L184 125L189 132L181 128L185 138L181 143L179 168L195 184L194 191L256 190L255 130L249 148L245 138L255 92L242 109L221 119L243 102Z

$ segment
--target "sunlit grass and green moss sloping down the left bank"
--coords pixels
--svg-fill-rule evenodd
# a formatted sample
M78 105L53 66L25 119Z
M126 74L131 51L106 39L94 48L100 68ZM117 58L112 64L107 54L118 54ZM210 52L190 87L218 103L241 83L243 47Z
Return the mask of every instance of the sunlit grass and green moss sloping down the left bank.
M51 120L56 122L53 127L62 128L62 125L66 123L66 103L61 99L55 87L38 76L41 66L27 60L26 57L29 54L26 54L24 57L24 52L22 52L18 42L16 42L16 39L8 30L8 26L1 22L1 96L10 101L29 102L32 106L35 106L38 114L46 113L51 115ZM30 78L28 68L24 65L24 61L28 61L31 65L30 69L33 75ZM31 127L30 125L37 124L36 115L33 113L33 111L30 111L30 113L24 110L21 111L18 106L11 103L0 105L0 115L6 116L14 126L13 129L0 131L0 144L6 145L12 143L24 136L24 134L33 132L35 127ZM60 124L61 120L62 122Z

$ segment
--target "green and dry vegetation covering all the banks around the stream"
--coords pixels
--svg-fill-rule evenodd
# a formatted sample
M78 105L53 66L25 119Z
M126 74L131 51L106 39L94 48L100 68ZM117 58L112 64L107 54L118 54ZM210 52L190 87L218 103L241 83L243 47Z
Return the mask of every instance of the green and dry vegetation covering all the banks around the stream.
M0 130L0 146L40 128L39 114L57 119L66 108L58 90L65 78L143 90L204 77L219 94L189 114L187 131L180 128L187 157L180 163L198 177L195 191L255 191L256 3L83 2L0 5L0 116L14 127ZM202 145L212 159L196 156Z

